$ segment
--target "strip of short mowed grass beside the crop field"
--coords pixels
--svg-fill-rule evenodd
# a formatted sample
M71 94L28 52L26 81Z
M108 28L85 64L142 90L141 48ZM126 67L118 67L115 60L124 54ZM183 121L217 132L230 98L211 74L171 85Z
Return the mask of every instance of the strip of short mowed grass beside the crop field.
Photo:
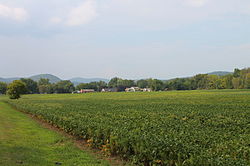
M108 165L0 101L1 166Z

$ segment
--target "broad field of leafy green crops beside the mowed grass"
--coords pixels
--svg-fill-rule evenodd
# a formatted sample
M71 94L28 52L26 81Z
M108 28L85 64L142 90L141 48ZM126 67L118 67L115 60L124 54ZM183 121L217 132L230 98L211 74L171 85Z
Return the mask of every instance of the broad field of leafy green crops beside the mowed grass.
M25 95L6 100L136 165L250 165L250 91Z

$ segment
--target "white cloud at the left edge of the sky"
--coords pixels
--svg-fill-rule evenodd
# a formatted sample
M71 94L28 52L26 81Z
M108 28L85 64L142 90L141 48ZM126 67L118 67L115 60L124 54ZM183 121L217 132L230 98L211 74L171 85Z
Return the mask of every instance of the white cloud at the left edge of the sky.
M28 18L28 12L23 8L9 7L0 4L0 17L15 21L25 21Z

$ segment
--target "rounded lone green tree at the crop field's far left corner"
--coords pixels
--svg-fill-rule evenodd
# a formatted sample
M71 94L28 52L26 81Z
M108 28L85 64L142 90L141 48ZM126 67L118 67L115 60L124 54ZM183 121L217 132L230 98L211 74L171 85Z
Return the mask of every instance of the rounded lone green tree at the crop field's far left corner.
M15 80L10 83L7 87L7 94L9 95L10 99L19 99L21 94L25 94L27 91L26 84L21 80Z

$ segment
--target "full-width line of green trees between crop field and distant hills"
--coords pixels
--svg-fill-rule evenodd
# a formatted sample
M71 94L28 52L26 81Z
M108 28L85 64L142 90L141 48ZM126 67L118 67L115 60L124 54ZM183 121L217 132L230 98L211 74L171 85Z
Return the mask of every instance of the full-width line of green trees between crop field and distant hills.
M77 86L69 80L50 83L49 79L41 78L34 81L29 78L15 80L9 85L0 82L0 94L12 94L11 98L19 98L20 94L52 94L71 93L75 90L103 88L116 88L118 92L129 87L150 88L152 91L163 90L196 90L196 89L250 89L250 68L235 69L232 74L217 76L198 74L189 78L176 78L168 81L158 79L128 80L118 77L112 78L108 83L104 81L81 83ZM17 88L18 87L18 88ZM18 95L19 93L19 95Z

